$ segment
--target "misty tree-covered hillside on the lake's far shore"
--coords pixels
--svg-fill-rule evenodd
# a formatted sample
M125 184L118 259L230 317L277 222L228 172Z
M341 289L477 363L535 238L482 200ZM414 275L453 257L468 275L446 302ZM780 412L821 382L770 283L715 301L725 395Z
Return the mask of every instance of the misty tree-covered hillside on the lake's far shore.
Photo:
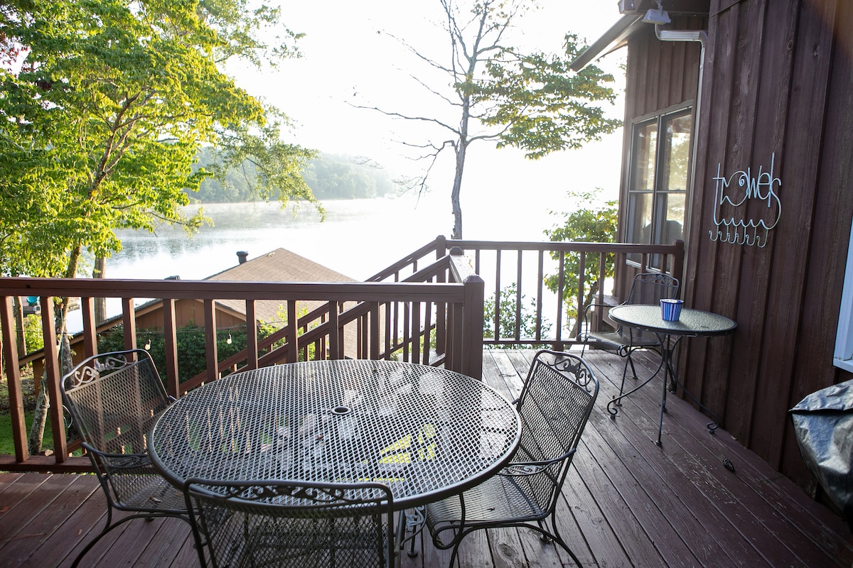
M196 168L207 170L219 167L212 148L202 148ZM225 183L215 178L201 182L198 192L189 197L200 203L239 203L252 201L258 196L252 192L252 181L258 175L254 164L243 162L240 168L225 172ZM373 162L364 158L339 154L321 154L311 159L303 172L303 179L317 199L359 199L382 197L397 193L391 175Z

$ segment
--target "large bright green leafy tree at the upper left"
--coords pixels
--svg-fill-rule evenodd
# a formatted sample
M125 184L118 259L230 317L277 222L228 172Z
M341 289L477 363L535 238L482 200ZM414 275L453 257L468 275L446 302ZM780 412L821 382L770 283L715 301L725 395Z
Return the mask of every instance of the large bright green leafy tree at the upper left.
M248 0L4 3L3 273L73 278L83 250L97 258L120 250L115 229L197 227L200 215L183 214L183 189L210 175L192 168L202 145L226 166L251 158L262 196L313 201L301 178L313 152L283 143L287 118L221 71L236 57L259 65L295 55L299 34L279 18ZM261 41L267 30L282 35ZM26 53L20 68L9 46ZM67 309L58 301L60 337ZM67 342L61 353L70 361ZM46 410L38 406L34 432Z

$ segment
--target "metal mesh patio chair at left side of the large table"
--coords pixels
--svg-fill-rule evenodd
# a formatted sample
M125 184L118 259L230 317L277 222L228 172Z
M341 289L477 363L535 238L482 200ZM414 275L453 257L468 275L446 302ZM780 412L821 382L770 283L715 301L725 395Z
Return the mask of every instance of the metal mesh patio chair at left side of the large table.
M62 377L61 393L107 496L107 524L73 566L102 536L131 519L177 517L189 522L181 491L160 477L148 458L148 432L173 400L151 355L134 349L84 359ZM113 509L132 514L113 523Z

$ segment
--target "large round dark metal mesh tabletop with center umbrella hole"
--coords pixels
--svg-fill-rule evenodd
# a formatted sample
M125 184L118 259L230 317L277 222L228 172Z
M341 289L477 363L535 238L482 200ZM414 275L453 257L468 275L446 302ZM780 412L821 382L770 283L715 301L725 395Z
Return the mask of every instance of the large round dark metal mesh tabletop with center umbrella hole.
M483 382L419 364L341 359L226 376L154 426L155 468L186 479L378 481L395 508L451 495L502 468L514 406Z

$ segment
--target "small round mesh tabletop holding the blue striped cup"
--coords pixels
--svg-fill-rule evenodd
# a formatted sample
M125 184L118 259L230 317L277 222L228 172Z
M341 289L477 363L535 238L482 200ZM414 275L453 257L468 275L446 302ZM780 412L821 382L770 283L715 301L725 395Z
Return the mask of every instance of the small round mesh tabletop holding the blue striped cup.
M660 317L660 306L630 304L612 307L610 317L618 324L638 327L670 336L722 336L734 330L738 324L718 313L682 308L677 321L666 321Z

